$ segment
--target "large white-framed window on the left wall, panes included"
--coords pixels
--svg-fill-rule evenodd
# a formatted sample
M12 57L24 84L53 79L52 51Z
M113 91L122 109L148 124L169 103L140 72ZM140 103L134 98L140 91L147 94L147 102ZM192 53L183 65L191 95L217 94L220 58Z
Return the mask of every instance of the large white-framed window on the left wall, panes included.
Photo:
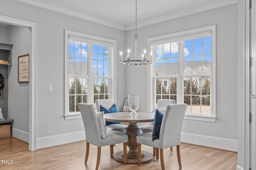
M115 46L114 40L66 30L65 119L81 117L78 103L114 98Z

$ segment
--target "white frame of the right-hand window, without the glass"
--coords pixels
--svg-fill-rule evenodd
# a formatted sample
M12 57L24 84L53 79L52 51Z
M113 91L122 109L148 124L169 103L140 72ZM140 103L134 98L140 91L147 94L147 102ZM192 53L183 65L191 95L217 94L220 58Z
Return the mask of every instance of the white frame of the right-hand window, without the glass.
M210 121L216 122L216 25L210 25L206 27L200 27L196 29L190 29L186 31L180 31L176 33L170 33L166 35L160 35L157 37L148 38L148 49L153 49L154 45L170 43L170 42L177 42L183 41L188 39L194 39L199 37L204 37L211 35L211 81L210 81L210 100L211 100L211 115L199 115L199 114L185 114L184 119L189 120L198 120L198 121ZM152 50L151 50L152 51ZM181 53L180 53L181 54ZM179 61L181 61L181 56L179 55ZM153 57L153 63L156 62L155 57ZM182 61L181 61L182 62ZM179 62L179 75L182 72L181 62ZM155 64L152 64L148 67L148 110L152 110L153 106L156 104L154 98L154 69ZM194 75L190 75L193 77ZM176 103L183 103L182 94L178 95L178 92L181 93L181 89L183 87L183 80L184 75L182 76L172 76L173 78L177 78L177 101ZM180 78L182 78L180 80ZM179 83L178 83L179 82Z

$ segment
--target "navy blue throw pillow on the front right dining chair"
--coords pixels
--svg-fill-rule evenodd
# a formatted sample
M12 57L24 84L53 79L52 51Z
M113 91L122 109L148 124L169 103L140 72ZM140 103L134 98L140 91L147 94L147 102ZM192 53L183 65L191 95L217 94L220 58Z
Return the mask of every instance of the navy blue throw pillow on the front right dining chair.
M153 127L153 132L152 132L152 141L159 138L160 128L161 128L163 117L164 117L164 114L161 111L159 111L158 109L156 109L156 113L154 116L154 127Z

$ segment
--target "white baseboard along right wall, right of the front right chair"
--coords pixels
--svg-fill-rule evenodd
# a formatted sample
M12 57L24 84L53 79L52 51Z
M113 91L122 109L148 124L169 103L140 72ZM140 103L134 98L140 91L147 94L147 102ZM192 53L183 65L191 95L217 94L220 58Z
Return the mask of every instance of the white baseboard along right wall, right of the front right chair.
M238 141L234 139L226 139L220 137L212 137L206 135L198 135L193 133L181 133L181 142L191 143L217 149L238 151Z

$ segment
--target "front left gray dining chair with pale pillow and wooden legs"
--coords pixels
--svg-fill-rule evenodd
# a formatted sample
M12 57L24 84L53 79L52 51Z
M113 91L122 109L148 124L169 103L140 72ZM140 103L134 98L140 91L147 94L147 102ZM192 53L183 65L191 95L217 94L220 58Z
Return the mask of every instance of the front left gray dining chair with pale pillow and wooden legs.
M98 147L96 170L98 170L100 164L101 147L110 145L110 157L112 158L114 153L114 144L123 143L124 147L124 164L127 163L127 151L126 145L128 136L118 131L107 131L104 127L104 114L102 117L98 117L92 104L78 104L79 110L84 122L84 129L86 135L86 154L84 163L87 163L90 144ZM100 114L99 114L100 115ZM101 120L101 121L100 121ZM103 130L105 129L105 131Z

